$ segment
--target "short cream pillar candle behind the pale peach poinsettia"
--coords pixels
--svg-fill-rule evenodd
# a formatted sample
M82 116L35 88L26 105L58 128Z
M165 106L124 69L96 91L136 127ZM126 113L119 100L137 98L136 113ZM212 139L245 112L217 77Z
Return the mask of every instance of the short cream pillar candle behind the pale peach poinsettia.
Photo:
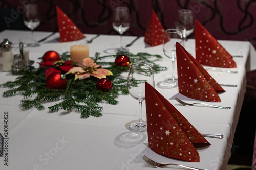
M83 59L89 57L88 45L73 45L70 47L70 60L82 64ZM79 65L78 64L78 65Z

